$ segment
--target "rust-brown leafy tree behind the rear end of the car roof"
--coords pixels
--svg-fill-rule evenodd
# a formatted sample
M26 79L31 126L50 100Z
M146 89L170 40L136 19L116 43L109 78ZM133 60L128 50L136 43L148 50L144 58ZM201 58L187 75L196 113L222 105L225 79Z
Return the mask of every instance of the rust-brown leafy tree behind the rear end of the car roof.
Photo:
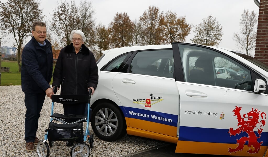
M132 40L134 24L127 13L116 13L109 24L110 42L114 48L129 46Z

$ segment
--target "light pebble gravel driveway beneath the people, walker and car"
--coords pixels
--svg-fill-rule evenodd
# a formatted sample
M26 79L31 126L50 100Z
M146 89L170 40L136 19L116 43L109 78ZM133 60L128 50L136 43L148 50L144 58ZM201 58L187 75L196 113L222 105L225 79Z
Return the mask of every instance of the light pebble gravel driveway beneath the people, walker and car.
M0 86L0 156L38 156L36 151L27 152L24 140L24 119L26 108L24 105L24 92L21 86ZM54 106L54 112L63 114L62 104ZM48 129L51 113L51 100L46 97L41 116L37 137L44 139L45 129ZM89 127L90 133L94 134ZM88 141L86 142L88 145ZM100 140L94 135L94 148L90 156L123 156L144 149L159 146L163 143L146 138L126 135L115 142ZM36 146L35 146L36 147ZM55 141L50 147L50 156L70 156L72 147L66 146L64 141Z

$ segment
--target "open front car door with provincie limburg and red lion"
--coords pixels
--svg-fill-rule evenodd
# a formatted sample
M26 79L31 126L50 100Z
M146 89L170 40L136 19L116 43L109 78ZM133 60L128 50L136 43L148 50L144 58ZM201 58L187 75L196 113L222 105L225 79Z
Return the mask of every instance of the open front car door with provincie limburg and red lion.
M173 43L173 51L180 95L176 152L262 156L267 149L268 96L252 92L254 78L261 77L213 49ZM237 86L242 81L217 78L215 66L224 66L221 62L247 70L247 82Z

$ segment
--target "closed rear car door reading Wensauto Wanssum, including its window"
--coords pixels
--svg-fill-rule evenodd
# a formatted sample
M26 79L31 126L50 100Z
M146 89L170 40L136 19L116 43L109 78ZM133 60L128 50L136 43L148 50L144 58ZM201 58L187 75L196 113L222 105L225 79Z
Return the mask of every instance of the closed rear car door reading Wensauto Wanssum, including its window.
M179 97L173 62L171 49L137 51L125 65L128 73L113 78L128 134L143 132L162 140L168 135L177 140Z

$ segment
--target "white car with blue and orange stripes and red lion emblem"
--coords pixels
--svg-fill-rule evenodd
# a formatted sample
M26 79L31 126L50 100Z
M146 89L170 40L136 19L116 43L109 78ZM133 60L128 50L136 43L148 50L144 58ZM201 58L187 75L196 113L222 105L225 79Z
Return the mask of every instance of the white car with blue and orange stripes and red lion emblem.
M175 152L263 156L268 147L268 67L239 51L187 43L103 51L91 97L102 140L125 134L176 143ZM244 80L221 79L237 67ZM267 113L267 114L266 114Z

